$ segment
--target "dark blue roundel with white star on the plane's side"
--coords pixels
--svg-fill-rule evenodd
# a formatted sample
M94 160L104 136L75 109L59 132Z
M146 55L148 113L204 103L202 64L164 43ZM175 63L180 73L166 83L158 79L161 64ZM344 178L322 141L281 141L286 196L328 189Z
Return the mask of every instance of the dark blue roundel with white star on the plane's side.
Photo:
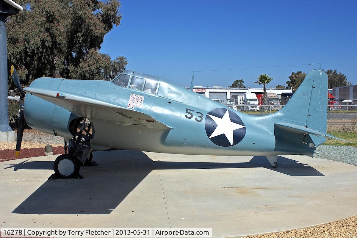
M246 133L242 119L227 108L216 108L208 112L205 129L208 138L218 146L237 145Z

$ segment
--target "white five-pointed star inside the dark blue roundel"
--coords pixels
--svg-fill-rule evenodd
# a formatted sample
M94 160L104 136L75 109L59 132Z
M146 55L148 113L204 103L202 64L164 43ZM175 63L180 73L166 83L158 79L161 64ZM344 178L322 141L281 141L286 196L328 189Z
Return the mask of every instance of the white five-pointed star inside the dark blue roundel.
M210 138L224 134L227 137L229 143L231 143L231 146L233 145L233 131L245 127L240 124L231 122L231 118L229 117L228 110L226 111L226 113L223 115L222 118L215 117L208 114L207 116L211 117L212 120L215 121L217 124L217 127L213 131Z

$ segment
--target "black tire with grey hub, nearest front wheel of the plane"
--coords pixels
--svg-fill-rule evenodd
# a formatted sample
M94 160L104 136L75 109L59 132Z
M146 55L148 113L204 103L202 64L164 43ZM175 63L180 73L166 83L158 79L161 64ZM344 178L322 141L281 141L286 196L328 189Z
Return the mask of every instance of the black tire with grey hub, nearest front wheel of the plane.
M74 178L79 173L80 165L75 157L63 154L56 158L53 169L59 178Z

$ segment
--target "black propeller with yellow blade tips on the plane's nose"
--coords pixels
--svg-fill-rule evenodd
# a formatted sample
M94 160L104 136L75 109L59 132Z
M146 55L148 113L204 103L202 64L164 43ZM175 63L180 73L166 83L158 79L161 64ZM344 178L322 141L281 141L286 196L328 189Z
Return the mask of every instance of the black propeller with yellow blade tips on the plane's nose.
M22 142L22 136L24 135L24 129L26 125L25 117L24 117L24 99L25 99L25 92L21 87L21 83L19 80L19 75L17 74L14 65L11 65L10 73L12 76L12 80L14 80L14 83L16 85L17 90L20 92L20 120L19 120L19 125L17 125L17 138L16 138L16 152L15 156L19 157L20 155L20 150L21 150L21 142Z

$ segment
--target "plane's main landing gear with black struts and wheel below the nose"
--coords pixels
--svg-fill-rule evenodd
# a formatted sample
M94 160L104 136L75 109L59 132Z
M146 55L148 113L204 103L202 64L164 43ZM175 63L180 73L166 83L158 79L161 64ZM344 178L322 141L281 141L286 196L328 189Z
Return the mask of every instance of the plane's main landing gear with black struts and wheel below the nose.
M87 123L86 118L77 118L71 123L70 129L74 136L68 144L65 141L65 153L56 158L53 164L55 174L49 179L83 178L79 174L81 166L97 165L92 161L93 154L90 148L90 140L94 137L92 122Z

